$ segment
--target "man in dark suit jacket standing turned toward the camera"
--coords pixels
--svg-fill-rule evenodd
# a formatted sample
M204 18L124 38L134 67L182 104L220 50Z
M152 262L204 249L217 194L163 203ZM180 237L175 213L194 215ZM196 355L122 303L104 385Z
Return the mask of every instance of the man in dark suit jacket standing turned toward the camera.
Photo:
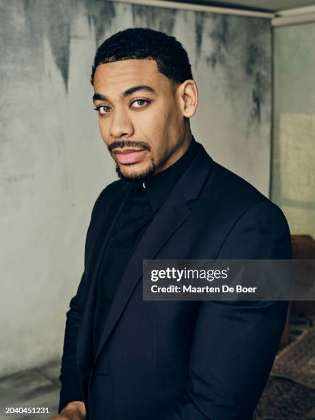
M142 261L290 259L283 213L194 139L198 91L175 38L118 32L91 82L121 179L93 208L54 419L251 419L287 303L143 301Z

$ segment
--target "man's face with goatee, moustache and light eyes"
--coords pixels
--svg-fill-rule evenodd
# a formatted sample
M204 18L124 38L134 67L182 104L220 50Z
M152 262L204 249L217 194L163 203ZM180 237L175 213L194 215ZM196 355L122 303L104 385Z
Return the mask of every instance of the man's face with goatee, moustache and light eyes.
M179 85L154 60L99 65L93 86L100 132L119 176L148 178L185 152Z

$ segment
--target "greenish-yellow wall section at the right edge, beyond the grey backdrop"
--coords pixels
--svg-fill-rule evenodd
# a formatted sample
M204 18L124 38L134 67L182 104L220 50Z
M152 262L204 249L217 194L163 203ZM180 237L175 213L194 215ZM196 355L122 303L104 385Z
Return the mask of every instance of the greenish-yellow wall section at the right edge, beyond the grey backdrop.
M315 238L315 23L275 29L272 200Z

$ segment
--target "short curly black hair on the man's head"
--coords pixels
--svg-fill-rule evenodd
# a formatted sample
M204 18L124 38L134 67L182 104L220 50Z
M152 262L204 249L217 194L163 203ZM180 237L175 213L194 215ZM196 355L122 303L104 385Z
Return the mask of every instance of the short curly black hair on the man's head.
M145 58L155 60L159 72L175 83L192 79L187 51L174 36L147 27L128 28L107 38L97 49L91 72L106 62Z

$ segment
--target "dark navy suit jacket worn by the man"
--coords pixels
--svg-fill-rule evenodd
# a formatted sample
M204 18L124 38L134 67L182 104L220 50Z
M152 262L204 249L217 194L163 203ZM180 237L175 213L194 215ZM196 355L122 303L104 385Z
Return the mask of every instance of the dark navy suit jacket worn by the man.
M130 183L118 180L97 198L67 312L59 411L82 400L93 420L252 418L288 303L142 298L143 259L292 257L279 207L199 147L132 255L93 359L97 273Z

